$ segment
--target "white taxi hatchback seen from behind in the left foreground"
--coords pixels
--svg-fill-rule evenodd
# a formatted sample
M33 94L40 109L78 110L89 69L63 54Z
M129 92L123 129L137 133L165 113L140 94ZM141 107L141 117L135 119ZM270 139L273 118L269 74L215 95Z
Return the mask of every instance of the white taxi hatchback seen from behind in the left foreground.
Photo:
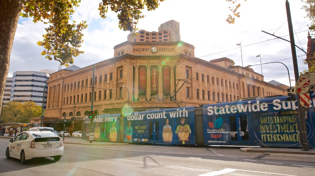
M37 157L52 157L59 161L63 155L62 139L50 131L24 131L10 143L5 151L7 159L17 158L21 163Z

